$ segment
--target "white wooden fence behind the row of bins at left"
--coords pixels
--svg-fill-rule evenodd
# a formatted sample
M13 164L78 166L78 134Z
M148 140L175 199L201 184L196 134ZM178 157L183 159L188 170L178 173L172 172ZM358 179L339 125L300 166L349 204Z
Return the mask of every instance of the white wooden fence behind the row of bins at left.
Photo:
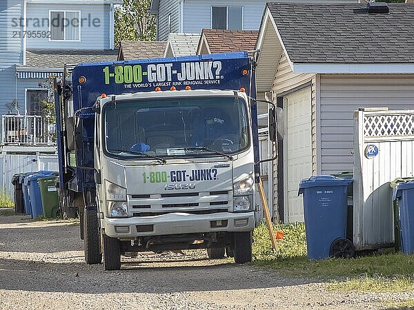
M56 154L0 154L1 189L14 200L12 177L14 174L39 170L57 171Z

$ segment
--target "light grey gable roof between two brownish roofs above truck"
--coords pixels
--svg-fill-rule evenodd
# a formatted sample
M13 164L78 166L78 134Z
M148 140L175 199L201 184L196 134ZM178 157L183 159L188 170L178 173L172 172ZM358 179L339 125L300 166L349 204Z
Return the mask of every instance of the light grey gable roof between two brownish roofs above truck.
M197 54L197 46L201 34L198 33L170 33L168 34L166 52L164 56L188 56ZM168 49L172 55L167 55Z

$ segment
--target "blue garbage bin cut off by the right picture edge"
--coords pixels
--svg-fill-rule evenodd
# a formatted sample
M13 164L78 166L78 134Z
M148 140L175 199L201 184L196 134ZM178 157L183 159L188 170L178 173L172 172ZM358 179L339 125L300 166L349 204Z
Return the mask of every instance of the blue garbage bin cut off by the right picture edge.
M400 183L393 189L393 200L397 199L401 249L405 254L414 254L414 181Z

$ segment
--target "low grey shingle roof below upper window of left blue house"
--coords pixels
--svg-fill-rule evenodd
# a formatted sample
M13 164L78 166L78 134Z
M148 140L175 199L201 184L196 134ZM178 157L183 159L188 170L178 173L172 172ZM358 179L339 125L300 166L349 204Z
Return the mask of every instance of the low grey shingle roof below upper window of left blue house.
M29 68L63 68L65 64L116 61L117 50L27 50Z

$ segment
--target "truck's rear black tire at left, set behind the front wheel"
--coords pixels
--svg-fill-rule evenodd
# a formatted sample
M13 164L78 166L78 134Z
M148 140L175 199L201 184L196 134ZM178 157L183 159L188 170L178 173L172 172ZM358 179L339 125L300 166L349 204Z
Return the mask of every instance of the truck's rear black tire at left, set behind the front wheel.
M97 210L83 210L83 244L88 265L102 262Z

